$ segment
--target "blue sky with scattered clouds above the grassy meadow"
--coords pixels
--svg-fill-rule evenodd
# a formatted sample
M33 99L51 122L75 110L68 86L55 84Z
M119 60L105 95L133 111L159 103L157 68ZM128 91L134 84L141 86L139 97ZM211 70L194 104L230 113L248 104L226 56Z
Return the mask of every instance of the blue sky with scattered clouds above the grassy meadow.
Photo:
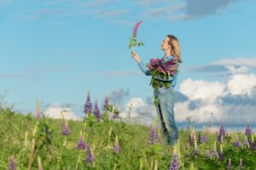
M145 46L136 52L145 63L163 56L160 42L167 34L180 42L177 122L192 116L195 124L253 124L255 5L254 0L0 0L0 94L8 91L5 105L22 113L34 112L39 99L49 115L67 108L82 116L88 90L99 105L108 93L123 115L133 103L132 114L144 111L143 122L151 122L156 113L150 77L127 48L134 24L143 20L137 39ZM211 112L213 117L202 116Z

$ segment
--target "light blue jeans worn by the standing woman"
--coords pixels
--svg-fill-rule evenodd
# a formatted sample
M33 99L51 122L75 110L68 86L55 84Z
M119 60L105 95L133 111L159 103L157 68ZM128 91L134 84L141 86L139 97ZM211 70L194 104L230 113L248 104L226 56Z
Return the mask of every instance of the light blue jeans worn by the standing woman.
M154 89L156 99L160 103L156 105L156 111L161 122L162 132L167 144L175 144L178 139L177 126L174 119L174 91L173 88L162 87Z

